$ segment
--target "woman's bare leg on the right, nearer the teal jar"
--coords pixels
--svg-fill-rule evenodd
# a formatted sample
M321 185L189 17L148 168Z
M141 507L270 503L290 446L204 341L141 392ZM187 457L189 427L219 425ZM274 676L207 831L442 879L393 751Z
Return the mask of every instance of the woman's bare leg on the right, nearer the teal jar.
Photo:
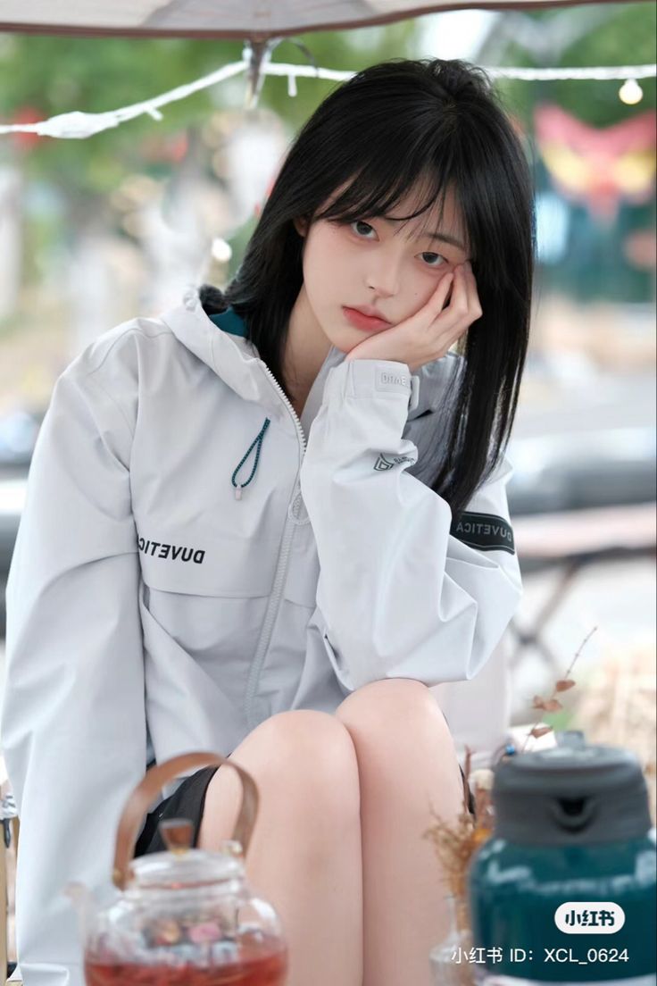
M444 717L419 681L375 681L338 708L361 779L362 986L428 986L428 953L447 931L446 888L422 835L431 807L462 808L458 762Z

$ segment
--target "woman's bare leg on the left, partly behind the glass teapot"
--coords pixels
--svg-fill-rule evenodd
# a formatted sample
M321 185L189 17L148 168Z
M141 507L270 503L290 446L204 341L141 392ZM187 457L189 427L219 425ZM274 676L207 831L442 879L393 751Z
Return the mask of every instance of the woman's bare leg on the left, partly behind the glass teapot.
M323 712L273 716L230 755L254 778L260 810L246 860L290 947L287 986L361 986L362 868L358 764L345 727ZM230 838L239 781L208 788L199 846Z

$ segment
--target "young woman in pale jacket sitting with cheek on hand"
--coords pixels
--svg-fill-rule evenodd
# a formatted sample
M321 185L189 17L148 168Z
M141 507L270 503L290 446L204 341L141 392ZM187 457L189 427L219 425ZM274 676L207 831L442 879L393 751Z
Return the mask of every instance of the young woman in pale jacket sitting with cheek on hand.
M261 792L253 885L290 986L427 986L461 808L428 687L520 596L503 456L532 193L485 76L375 65L296 138L225 294L191 289L62 375L9 586L3 745L26 986L80 986L69 880L107 880L151 760L216 749ZM454 355L457 345L460 355ZM228 837L230 771L152 812Z

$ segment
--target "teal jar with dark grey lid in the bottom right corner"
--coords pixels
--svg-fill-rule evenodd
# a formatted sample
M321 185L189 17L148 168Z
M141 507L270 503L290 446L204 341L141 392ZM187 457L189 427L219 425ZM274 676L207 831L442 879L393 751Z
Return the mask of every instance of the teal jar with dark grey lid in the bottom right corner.
M469 903L480 981L656 981L656 854L637 759L608 746L512 756ZM633 984L632 984L633 986Z

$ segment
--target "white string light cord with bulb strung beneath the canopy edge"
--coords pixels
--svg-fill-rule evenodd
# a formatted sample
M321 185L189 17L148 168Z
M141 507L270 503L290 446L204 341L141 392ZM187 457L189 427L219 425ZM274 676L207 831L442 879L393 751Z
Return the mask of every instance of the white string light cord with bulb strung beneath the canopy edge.
M160 106L166 106L178 100L183 100L192 93L197 93L202 89L207 89L217 83L224 82L232 76L242 72L250 72L249 95L247 97L248 106L254 106L257 98L257 79L253 77L253 63L246 57L249 53L248 46L244 49L244 58L238 62L231 62L224 68L218 69L210 75L203 76L195 82L190 82L184 86L178 86L161 96L153 97L142 103L135 103L131 106L122 106L119 109L110 109L102 113L86 113L75 110L69 113L61 113L51 116L46 120L39 120L37 123L11 123L0 125L0 134L8 133L35 133L42 137L60 137L67 139L82 140L92 137L101 130L108 130L111 127L119 126L126 120L134 119L144 113L149 114L156 120L162 120ZM632 105L638 103L643 95L637 79L652 78L657 75L657 65L619 65L619 66L594 66L591 68L488 68L482 66L492 79L520 79L526 82L537 81L556 81L561 79L572 80L615 80L624 79L624 85L619 93L624 103ZM292 65L280 62L268 62L263 58L260 62L259 72L261 75L278 75L288 77L289 93L291 96L296 94L296 83L294 80L299 77L313 79L328 79L333 82L343 82L351 79L355 72L336 71L334 69L321 68L312 65ZM623 94L629 87L630 99ZM638 98L636 98L636 94Z

